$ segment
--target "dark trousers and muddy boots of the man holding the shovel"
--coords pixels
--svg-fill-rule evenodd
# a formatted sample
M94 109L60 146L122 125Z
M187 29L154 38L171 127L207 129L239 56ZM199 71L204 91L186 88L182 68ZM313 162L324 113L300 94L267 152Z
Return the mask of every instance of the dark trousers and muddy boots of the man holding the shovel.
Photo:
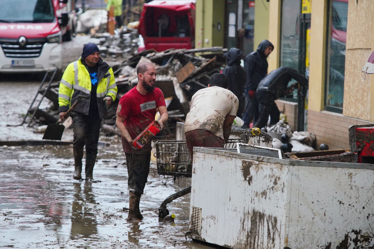
M73 155L74 174L76 180L82 179L83 147L86 145L86 180L93 180L93 167L97 155L97 144L101 127L101 119L98 116L81 115L76 112L70 113L73 119Z

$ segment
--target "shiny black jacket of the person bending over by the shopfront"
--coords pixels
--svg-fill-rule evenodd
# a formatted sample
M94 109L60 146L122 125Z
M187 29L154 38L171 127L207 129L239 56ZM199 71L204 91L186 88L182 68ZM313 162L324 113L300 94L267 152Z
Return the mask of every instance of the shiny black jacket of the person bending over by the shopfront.
M265 78L258 84L257 91L266 91L271 93L273 100L284 96L285 90L291 79L296 80L300 85L308 84L308 79L302 74L298 73L295 69L288 66L281 66L271 71Z

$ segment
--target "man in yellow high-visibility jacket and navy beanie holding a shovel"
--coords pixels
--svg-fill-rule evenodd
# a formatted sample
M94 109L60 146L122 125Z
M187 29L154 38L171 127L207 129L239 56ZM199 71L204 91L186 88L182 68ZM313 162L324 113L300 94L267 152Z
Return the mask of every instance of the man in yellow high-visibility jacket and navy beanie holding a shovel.
M83 47L79 60L70 63L62 75L58 90L59 115L64 114L76 102L78 95L88 96L70 112L73 119L73 155L75 180L81 180L83 146L86 145L85 180L93 181L92 172L97 155L101 120L106 108L116 99L117 85L113 69L99 55L96 44Z

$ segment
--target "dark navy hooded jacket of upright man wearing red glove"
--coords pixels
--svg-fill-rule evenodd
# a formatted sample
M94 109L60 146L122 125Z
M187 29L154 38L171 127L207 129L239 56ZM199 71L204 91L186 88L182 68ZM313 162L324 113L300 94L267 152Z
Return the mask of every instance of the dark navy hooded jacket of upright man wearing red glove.
M250 53L244 59L244 70L247 74L245 89L256 90L258 83L267 75L267 60L264 51L267 47L273 47L268 40L263 40L257 47L257 51Z

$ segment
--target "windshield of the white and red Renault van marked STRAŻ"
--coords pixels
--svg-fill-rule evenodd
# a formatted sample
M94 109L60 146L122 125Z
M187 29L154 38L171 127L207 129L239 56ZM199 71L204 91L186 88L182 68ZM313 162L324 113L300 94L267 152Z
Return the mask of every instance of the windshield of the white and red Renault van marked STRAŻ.
M1 0L0 22L53 22L51 0Z

